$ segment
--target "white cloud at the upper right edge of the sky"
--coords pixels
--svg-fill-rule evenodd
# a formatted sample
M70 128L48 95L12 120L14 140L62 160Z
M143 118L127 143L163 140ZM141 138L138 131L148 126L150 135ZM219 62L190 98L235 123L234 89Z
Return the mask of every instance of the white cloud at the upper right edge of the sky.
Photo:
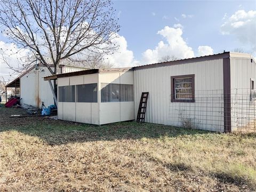
M236 11L221 25L223 35L234 35L239 42L256 52L256 11Z

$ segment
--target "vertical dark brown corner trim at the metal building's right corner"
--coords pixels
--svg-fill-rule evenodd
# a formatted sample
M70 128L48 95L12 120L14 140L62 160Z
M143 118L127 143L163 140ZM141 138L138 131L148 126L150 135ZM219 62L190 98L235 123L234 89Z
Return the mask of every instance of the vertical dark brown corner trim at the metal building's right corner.
M223 59L224 132L231 132L230 58Z

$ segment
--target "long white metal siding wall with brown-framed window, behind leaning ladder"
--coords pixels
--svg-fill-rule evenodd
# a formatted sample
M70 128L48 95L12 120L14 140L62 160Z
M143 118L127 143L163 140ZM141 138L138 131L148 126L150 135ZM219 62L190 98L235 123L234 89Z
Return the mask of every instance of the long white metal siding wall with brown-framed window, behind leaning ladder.
M171 102L171 76L189 74L195 74L195 103ZM134 70L134 90L135 114L141 93L149 92L146 122L180 126L184 117L198 129L223 131L222 59Z

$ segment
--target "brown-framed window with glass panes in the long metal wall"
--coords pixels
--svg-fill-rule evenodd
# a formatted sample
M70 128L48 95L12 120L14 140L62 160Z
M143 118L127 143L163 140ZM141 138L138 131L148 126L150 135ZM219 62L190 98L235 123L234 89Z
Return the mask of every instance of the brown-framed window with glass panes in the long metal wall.
M195 75L171 77L172 102L195 102Z

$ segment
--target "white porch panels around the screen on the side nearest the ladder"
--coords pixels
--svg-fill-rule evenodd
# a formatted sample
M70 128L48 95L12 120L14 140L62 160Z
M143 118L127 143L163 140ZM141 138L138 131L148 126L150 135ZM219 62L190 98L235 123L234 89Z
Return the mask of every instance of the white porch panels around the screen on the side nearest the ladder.
M99 101L101 101L101 83L133 85L133 71L124 73L99 74ZM100 102L100 124L133 120L134 102Z

